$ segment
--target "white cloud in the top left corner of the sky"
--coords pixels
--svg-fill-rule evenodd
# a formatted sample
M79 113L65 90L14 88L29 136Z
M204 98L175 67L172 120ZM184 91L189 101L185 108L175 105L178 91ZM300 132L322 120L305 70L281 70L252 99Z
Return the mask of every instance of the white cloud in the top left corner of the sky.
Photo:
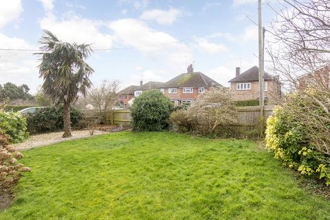
M1 1L0 28L4 27L10 21L19 19L21 12L23 12L21 0Z

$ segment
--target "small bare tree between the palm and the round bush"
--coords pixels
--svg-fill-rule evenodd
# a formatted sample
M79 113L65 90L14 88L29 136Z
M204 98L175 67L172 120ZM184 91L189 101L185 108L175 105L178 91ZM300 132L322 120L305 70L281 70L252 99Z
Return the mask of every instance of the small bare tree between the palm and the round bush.
M101 122L105 122L107 111L111 110L117 101L117 92L120 87L118 80L103 80L99 87L93 87L89 91L89 98L98 110Z

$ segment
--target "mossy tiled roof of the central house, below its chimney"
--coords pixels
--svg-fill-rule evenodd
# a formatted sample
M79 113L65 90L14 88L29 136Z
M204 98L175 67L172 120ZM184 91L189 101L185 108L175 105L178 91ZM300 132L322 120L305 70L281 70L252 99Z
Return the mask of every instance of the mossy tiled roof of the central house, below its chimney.
M184 73L167 81L162 88L222 86L201 72Z

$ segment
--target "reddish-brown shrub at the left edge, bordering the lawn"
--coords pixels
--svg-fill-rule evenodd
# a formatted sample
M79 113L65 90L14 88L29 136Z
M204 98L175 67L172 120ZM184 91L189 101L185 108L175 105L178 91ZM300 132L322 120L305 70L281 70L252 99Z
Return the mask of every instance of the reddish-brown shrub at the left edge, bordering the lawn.
M22 172L30 171L30 168L23 167L17 159L23 155L16 148L8 146L10 137L0 131L0 194L8 192L17 184Z

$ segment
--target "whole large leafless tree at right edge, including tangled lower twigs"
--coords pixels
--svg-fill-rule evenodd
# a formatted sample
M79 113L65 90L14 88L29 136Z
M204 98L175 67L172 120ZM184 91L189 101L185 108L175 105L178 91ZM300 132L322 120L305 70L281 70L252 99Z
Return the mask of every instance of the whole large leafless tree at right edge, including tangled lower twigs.
M330 1L283 0L270 32L270 67L295 94L283 107L304 126L318 153L330 155ZM271 5L270 5L271 6ZM272 7L272 6L271 6ZM330 161L322 163L329 166Z

